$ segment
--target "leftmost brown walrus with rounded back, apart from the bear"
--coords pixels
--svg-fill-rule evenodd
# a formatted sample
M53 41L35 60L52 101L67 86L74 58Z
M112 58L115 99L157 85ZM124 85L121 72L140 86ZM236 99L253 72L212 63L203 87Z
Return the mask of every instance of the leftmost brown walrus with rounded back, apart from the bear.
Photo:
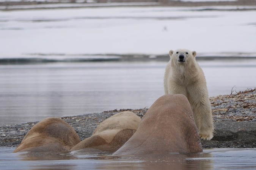
M48 117L32 127L13 152L65 152L79 142L79 136L68 123Z

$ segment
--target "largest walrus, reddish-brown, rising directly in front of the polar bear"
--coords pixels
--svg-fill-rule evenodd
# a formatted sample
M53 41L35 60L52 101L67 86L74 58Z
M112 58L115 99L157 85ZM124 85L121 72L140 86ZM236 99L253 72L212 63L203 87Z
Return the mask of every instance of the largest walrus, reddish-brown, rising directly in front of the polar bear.
M137 131L113 155L200 153L202 145L192 109L182 94L157 99Z

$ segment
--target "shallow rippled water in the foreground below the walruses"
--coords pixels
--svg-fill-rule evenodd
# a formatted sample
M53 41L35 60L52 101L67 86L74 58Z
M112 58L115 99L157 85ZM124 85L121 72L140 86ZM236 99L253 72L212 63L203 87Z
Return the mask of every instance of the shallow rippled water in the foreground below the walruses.
M165 154L146 156L105 156L11 153L14 148L0 147L0 169L175 169L218 170L256 169L256 149L205 149L198 154Z

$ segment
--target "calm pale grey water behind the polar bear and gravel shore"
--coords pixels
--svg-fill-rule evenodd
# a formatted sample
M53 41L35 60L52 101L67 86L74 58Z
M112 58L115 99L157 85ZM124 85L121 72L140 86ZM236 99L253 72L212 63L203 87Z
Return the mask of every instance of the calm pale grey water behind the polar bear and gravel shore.
M209 95L256 87L256 60L201 61ZM0 125L149 108L164 94L165 62L0 65Z

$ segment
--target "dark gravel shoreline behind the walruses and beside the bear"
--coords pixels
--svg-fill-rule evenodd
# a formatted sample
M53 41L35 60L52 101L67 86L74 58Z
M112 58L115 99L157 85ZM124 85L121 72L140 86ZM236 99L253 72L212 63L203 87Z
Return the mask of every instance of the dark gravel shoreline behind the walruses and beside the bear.
M210 102L215 133L211 141L201 140L203 148L256 148L256 88L210 97ZM147 110L112 110L61 119L75 129L82 141L90 137L102 121L116 113L132 111L143 117ZM17 147L36 123L38 122L0 127L0 147Z

